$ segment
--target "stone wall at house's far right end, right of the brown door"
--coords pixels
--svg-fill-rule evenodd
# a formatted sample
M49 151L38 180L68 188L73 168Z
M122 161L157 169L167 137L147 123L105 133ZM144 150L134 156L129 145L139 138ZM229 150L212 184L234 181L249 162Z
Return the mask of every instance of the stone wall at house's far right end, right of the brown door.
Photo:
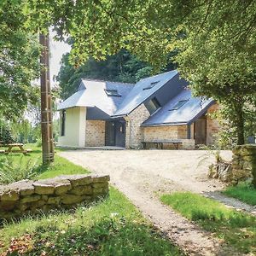
M211 114L218 110L218 104L212 105L207 111L207 145L214 143L214 136L220 127L217 119L212 119Z

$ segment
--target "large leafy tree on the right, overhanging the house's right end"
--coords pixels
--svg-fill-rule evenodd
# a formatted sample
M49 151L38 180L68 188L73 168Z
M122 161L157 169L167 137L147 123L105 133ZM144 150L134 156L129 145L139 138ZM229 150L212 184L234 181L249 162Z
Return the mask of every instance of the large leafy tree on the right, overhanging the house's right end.
M221 116L235 131L230 136L243 144L246 136L256 133L255 1L241 6L212 1L195 12L200 14L205 20L190 20L189 36L176 42L177 62L195 95L221 103Z

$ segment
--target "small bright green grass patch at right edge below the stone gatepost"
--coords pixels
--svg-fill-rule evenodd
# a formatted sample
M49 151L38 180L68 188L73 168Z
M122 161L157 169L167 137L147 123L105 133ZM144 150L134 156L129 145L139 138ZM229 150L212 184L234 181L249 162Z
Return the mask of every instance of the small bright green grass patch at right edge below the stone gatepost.
M230 186L223 193L249 205L256 206L256 189L251 184L240 183L237 186Z

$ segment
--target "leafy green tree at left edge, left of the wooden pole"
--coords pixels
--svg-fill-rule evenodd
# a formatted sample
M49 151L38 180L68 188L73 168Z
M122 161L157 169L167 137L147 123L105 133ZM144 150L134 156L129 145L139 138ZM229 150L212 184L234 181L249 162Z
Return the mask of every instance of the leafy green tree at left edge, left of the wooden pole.
M9 2L0 6L0 115L22 116L27 102L38 101L31 81L38 77L39 44L26 32L22 8Z

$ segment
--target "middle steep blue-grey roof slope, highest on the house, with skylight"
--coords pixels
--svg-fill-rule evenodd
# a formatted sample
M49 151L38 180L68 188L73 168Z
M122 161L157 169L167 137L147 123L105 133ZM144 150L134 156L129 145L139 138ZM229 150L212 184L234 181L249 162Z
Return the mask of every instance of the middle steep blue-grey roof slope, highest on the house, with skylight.
M113 116L124 116L131 113L177 74L177 70L173 70L140 80L125 97Z

